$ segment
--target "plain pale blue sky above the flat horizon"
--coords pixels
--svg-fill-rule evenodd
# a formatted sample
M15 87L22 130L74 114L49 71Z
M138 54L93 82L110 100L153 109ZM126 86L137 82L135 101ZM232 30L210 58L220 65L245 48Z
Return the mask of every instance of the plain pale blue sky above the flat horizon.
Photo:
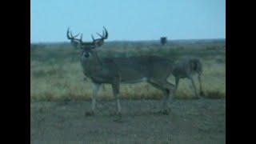
M68 42L66 30L107 41L226 38L225 0L30 0L31 42Z

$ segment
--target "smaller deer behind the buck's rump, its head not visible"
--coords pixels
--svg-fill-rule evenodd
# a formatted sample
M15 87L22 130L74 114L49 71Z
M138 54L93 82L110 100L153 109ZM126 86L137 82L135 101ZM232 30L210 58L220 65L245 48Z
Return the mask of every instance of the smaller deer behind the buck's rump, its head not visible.
M180 78L189 78L194 88L194 94L197 98L199 98L194 80L192 78L194 74L198 74L200 95L203 94L201 82L202 62L198 58L182 58L181 60L175 62L172 74L174 74L175 77L175 91L178 89L178 82Z

